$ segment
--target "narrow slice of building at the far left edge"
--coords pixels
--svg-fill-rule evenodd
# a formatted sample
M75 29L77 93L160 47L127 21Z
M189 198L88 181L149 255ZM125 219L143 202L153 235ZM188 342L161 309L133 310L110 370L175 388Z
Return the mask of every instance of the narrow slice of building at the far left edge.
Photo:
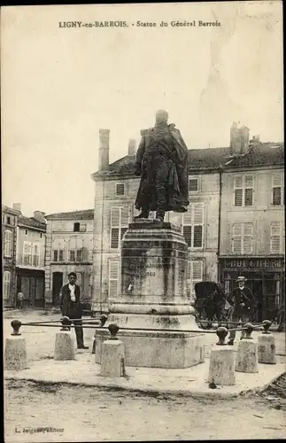
M16 252L19 208L2 206L3 306L16 306Z

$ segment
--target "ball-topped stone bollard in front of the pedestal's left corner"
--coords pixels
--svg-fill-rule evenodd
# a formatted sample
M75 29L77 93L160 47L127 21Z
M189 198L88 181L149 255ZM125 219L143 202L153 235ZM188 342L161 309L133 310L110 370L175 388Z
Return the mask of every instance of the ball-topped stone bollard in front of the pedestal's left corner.
M120 328L117 324L110 324L108 329L111 333L111 338L108 338L103 343L100 375L104 377L124 377L124 344L115 337Z

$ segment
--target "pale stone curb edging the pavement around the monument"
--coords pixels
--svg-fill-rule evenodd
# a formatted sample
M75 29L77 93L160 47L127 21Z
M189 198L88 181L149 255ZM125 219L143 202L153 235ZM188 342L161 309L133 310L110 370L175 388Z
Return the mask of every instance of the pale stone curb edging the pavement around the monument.
M246 389L244 391L241 392L218 392L213 390L212 392L204 392L204 391L178 391L178 390L166 390L166 389L159 389L159 388L151 388L151 387L133 387L133 386L122 386L122 385L117 385L116 383L108 383L108 381L104 381L104 383L93 383L93 384L89 384L89 383L84 383L84 382L76 382L76 381L71 381L71 382L61 382L61 381L55 381L55 380L40 380L40 379L35 379L33 377L4 377L4 380L21 380L21 381L27 381L27 382L33 382L35 384L42 384L42 385L66 385L66 386L82 386L82 387L97 387L97 389L101 389L101 390L107 390L107 391L128 391L128 392L135 392L135 393L140 393L141 395L144 394L146 396L150 395L150 394L155 394L155 396L176 396L176 397L184 397L184 398L208 398L208 399L220 399L220 400L228 400L228 399L236 399L238 397L249 397L251 395L257 394L259 392L263 392L267 389L267 387L269 385L271 385L272 383L274 383L275 380L277 380L279 377L281 377L283 374L285 374L286 372L283 372L282 374L278 374L275 375L274 377L271 378L271 380L263 385L263 386L258 386L258 387L254 387L251 389ZM221 386L221 388L223 389L224 386ZM219 389L221 389L219 387Z

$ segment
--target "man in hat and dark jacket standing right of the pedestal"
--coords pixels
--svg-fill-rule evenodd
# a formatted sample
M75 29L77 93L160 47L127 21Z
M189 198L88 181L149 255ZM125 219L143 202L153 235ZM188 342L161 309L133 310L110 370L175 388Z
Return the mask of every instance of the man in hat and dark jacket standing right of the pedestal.
M256 302L253 294L247 286L245 286L246 278L239 276L236 280L238 286L228 295L228 303L233 309L232 321L248 323L250 321L251 314L256 307ZM235 325L232 325L235 328ZM241 339L244 337L245 331L242 330ZM229 332L228 345L233 345L236 338L236 331L231 330Z

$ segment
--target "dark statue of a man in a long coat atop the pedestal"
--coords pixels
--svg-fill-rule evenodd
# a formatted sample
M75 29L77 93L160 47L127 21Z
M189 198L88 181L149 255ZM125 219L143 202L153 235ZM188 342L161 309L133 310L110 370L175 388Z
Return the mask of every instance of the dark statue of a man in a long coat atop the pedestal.
M156 211L156 220L164 221L167 211L188 211L188 148L179 129L167 120L166 111L159 110L155 127L141 131L135 159L135 175L141 175L135 208L141 214L135 218L148 218Z

